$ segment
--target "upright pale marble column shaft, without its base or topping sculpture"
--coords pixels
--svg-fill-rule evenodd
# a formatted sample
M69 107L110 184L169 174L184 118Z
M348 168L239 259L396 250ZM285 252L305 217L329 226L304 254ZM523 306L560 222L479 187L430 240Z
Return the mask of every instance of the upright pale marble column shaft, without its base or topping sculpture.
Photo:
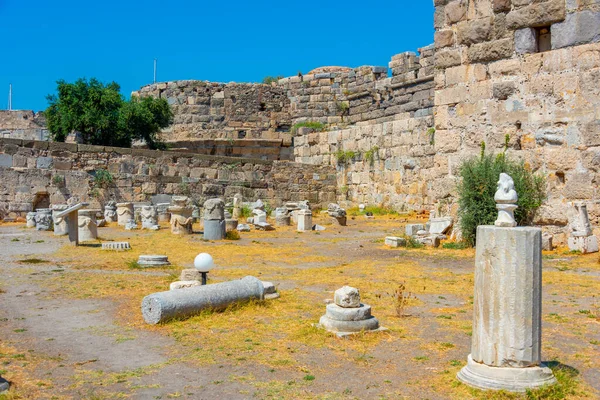
M479 226L473 361L494 367L541 363L542 230Z

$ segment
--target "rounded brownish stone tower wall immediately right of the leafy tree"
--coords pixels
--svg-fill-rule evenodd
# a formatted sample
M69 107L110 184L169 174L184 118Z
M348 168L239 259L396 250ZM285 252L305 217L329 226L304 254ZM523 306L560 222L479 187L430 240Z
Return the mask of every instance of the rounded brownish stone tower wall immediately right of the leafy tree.
M277 85L175 81L133 95L166 99L175 121L164 139L283 139L291 126L289 100Z

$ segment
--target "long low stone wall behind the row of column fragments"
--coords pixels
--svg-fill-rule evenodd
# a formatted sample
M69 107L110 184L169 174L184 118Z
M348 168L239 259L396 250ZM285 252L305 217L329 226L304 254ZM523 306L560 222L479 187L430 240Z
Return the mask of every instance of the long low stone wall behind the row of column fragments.
M112 182L95 179L108 170ZM23 215L71 197L101 208L108 200L149 201L159 194L262 199L272 206L336 198L330 166L215 157L172 151L0 139L0 217Z

